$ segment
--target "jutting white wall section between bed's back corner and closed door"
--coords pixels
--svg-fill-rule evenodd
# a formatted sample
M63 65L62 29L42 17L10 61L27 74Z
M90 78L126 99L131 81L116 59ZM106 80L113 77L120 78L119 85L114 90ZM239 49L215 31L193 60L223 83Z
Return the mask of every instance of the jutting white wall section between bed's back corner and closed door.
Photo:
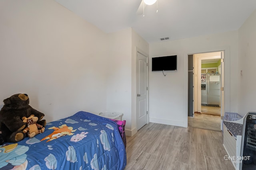
M107 111L124 113L126 135L137 132L136 50L148 54L149 44L132 28L108 35Z

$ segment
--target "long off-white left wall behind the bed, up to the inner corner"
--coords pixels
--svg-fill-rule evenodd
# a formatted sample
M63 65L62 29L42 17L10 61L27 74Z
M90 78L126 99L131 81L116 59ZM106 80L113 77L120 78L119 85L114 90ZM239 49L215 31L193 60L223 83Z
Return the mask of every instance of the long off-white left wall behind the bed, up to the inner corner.
M106 110L105 33L53 0L1 0L0 23L1 101L27 93L48 122Z

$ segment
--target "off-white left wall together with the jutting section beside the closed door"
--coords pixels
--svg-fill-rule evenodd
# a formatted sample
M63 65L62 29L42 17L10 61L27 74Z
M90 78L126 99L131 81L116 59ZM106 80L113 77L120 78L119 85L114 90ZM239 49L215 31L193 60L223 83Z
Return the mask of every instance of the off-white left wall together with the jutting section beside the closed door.
M149 45L132 28L106 34L53 0L0 1L0 23L0 100L27 93L48 122L122 112L136 133L136 49Z

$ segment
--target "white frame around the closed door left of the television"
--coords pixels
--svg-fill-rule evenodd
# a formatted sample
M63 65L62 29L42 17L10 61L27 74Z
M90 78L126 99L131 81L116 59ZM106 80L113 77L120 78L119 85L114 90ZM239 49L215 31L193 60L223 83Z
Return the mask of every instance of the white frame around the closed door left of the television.
M141 55L145 56L147 58L147 124L149 123L149 57L146 53L144 53L142 50L138 49L136 47L136 84L135 84L135 92L136 92L136 99L135 99L135 119L136 119L136 130L138 131L138 98L137 98L137 94L138 94L138 53L140 53Z

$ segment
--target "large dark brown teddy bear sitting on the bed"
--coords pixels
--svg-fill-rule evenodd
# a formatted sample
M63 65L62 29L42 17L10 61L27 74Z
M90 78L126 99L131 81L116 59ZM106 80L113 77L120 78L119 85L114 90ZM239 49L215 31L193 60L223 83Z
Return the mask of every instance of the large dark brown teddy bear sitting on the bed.
M26 137L22 130L27 124L22 121L22 117L34 115L38 117L37 123L45 127L46 121L41 120L44 113L29 105L27 94L14 94L3 102L4 106L0 110L0 131L5 142L18 142Z

